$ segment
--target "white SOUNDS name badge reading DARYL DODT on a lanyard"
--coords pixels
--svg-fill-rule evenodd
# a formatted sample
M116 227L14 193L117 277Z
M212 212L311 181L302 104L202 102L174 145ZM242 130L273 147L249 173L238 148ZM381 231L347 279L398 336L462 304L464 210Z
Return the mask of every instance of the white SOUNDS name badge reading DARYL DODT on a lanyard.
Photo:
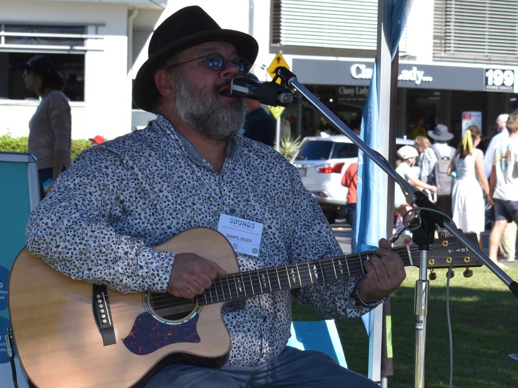
M259 256L263 235L262 223L220 214L218 232L227 238L235 252Z

